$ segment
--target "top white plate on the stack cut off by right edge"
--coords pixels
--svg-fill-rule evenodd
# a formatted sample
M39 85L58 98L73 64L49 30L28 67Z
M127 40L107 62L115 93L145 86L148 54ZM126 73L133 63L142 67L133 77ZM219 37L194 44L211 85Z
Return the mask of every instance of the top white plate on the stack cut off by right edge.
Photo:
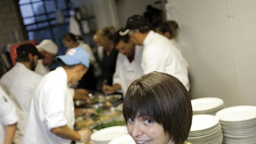
M216 113L216 117L224 122L240 122L256 119L256 106L234 106L224 108Z

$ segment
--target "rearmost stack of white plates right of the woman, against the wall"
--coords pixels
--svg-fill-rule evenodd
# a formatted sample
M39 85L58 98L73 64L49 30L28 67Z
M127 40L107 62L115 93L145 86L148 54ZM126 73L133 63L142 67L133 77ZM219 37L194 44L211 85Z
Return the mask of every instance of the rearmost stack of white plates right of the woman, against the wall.
M191 100L193 114L215 115L225 107L224 101L217 97L204 97Z

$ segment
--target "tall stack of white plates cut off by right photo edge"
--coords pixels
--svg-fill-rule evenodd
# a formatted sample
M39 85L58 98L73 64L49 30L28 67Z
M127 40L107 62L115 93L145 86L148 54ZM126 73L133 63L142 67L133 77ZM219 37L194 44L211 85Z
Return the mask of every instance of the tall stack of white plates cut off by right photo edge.
M256 144L256 106L234 106L216 113L225 144Z

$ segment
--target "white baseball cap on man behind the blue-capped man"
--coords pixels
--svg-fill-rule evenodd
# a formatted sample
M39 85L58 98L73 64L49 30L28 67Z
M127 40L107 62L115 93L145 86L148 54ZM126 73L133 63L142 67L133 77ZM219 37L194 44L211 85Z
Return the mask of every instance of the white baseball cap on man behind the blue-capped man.
M58 46L50 39L44 39L41 43L36 45L39 52L46 51L50 54L56 55L58 53Z

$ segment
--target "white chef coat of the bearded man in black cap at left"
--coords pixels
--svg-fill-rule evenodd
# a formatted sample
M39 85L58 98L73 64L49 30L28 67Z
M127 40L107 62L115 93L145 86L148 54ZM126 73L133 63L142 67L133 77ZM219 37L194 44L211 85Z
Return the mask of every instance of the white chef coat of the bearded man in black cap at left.
M23 134L24 122L28 117L32 94L41 79L41 75L19 62L0 79L2 89L10 96L17 108L19 121L17 123L16 136L17 134L20 136L15 136L15 141L20 139Z

